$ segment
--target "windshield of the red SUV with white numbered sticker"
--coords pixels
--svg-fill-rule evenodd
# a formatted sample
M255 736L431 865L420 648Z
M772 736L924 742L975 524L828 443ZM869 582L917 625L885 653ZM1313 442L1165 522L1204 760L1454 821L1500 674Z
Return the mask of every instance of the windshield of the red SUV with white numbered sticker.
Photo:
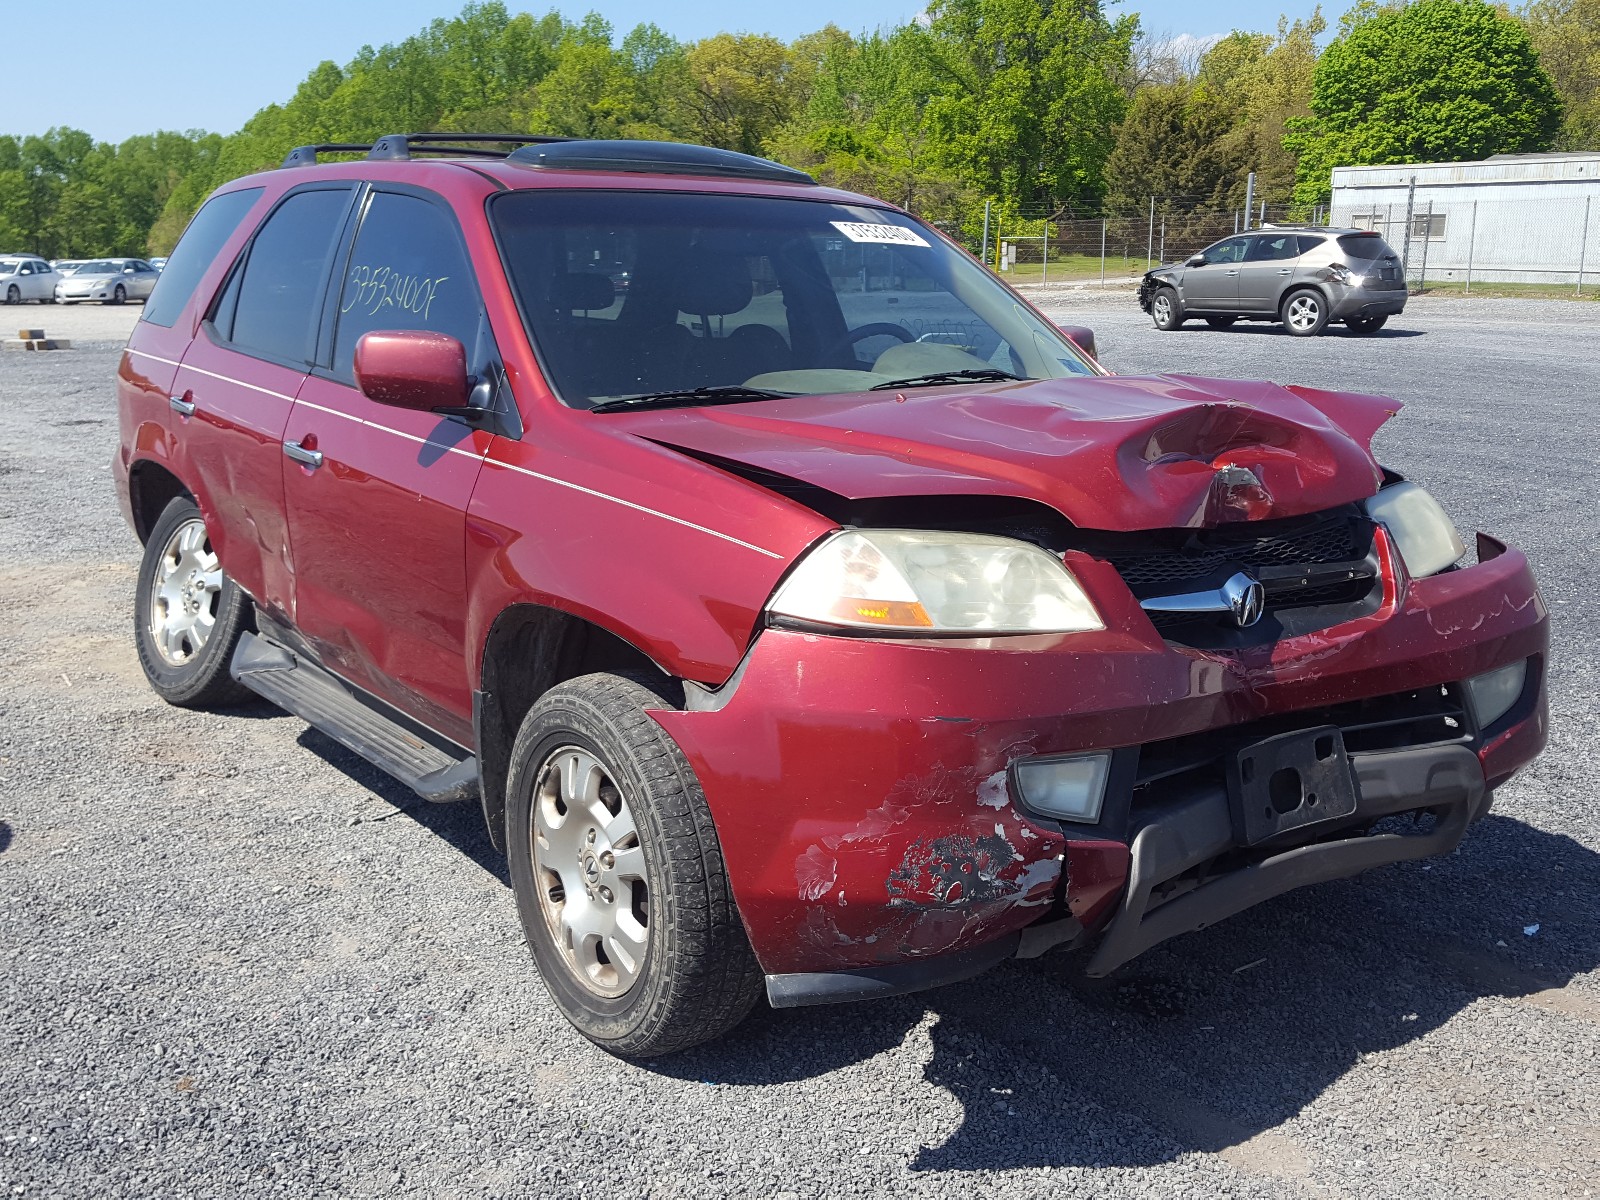
M490 213L550 384L574 408L1094 373L989 272L880 208L539 190Z

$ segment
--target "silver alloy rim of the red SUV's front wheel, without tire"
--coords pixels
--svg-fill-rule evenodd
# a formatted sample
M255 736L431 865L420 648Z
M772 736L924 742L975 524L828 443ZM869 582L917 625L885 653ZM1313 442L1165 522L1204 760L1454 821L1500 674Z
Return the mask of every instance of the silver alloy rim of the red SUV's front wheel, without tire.
M566 966L595 995L626 994L650 950L650 883L627 800L590 750L563 746L539 768L533 867Z

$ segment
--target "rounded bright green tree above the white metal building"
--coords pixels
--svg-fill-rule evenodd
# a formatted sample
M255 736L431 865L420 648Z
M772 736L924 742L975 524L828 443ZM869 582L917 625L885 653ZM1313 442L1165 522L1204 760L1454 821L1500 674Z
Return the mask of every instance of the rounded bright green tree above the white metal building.
M1317 61L1310 112L1285 136L1302 203L1328 197L1334 166L1547 150L1562 126L1526 30L1483 0L1368 0Z

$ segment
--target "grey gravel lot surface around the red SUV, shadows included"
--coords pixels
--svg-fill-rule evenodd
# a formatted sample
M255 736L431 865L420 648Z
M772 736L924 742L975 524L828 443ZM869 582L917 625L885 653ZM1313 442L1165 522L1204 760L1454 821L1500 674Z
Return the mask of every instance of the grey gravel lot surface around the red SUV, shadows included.
M547 1003L472 808L266 706L152 696L115 354L3 352L0 1194L1600 1190L1600 309L1424 299L1376 338L1291 341L1045 302L1118 371L1406 400L1382 458L1530 550L1554 739L1456 854L1109 981L1045 958L618 1062ZM138 315L13 314L85 344Z

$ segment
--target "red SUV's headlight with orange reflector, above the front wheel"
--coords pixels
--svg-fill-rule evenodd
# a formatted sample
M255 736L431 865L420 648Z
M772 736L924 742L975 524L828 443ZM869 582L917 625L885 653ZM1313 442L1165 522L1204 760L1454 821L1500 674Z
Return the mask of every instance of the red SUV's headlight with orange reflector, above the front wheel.
M979 533L846 530L813 549L773 616L904 634L1077 634L1104 629L1061 560Z

